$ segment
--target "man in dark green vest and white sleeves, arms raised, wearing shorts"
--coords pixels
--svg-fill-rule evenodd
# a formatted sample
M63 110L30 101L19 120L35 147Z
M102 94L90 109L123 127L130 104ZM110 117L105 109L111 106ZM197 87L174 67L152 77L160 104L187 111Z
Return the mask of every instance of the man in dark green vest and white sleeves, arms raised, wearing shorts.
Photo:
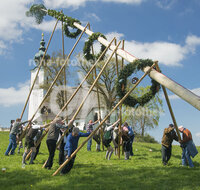
M114 130L114 127L117 125L118 122L119 120L113 123L111 126L107 126L104 130L103 145L107 148L106 159L108 160L110 160L113 153L113 147L110 145L113 139L112 131Z

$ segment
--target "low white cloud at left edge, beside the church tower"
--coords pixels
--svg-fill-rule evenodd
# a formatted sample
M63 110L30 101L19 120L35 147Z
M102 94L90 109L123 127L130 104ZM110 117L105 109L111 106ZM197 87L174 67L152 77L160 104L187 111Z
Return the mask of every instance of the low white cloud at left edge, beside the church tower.
M23 104L29 92L29 81L18 84L17 88L0 88L0 105L11 107Z

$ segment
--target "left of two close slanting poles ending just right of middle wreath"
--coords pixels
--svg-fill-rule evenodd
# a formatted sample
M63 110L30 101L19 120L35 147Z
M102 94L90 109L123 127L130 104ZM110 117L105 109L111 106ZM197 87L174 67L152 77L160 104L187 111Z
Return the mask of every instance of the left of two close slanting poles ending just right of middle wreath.
M109 46L113 43L115 38L113 38L109 44ZM90 71L87 73L87 75L84 77L84 79L82 80L82 82L80 83L80 85L76 88L76 90L74 91L74 93L71 95L71 97L69 98L69 100L65 103L65 105L63 106L63 108L60 110L60 112L56 115L56 117L54 118L54 120L59 117L59 115L64 111L64 109L68 106L68 104L71 102L71 100L74 98L74 96L78 93L79 89L82 87L83 83L86 81L86 79L88 78L88 76L90 75L90 73L93 71L93 69L95 68L95 66L97 65L97 63L99 62L99 60L102 58L102 56L106 53L106 51L108 50L108 47L106 47L106 49L102 52L102 54L99 56L98 60L96 61L96 63L94 65L92 65ZM67 119L67 117L63 120L63 122ZM54 120L52 122L54 122ZM51 123L52 123L51 122ZM49 127L49 125L51 124L46 124L43 127ZM36 148L37 146L40 144L40 142L43 140L44 136L47 134L49 128L47 128L45 131L46 133L44 135L42 135L42 137L38 140L38 143L36 144ZM28 159L30 157L31 151L29 152L29 156L27 155Z

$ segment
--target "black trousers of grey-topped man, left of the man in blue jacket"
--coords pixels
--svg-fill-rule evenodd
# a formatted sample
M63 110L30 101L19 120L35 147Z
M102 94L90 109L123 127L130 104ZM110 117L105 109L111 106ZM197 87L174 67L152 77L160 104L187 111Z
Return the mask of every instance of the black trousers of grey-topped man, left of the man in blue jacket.
M56 142L57 142L56 140L51 140L51 139L46 141L47 148L49 151L49 158L47 160L45 168L51 168L53 165L53 158L56 151Z

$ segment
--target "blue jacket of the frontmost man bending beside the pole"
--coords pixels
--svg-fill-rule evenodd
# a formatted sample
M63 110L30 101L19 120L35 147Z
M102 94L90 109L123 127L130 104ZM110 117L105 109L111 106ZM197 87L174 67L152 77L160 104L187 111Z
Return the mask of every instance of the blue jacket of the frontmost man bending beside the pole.
M78 140L80 137L88 137L90 133L82 133L79 132L78 136L72 136L72 133L70 133L67 136L67 142L65 144L64 150L68 151L68 157L77 149L78 147Z

